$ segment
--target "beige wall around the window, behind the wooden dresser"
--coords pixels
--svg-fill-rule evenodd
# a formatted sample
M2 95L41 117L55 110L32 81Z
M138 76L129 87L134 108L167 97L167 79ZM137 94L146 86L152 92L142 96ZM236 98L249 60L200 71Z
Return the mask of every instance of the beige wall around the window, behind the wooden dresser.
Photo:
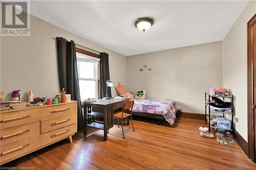
M27 91L34 96L54 96L59 93L56 42L52 37L61 36L75 43L109 54L110 75L114 84L126 83L127 58L89 40L62 30L31 16L30 36L1 37L1 91L5 96L20 89L27 99ZM116 96L115 88L112 95ZM10 94L6 99L10 99Z

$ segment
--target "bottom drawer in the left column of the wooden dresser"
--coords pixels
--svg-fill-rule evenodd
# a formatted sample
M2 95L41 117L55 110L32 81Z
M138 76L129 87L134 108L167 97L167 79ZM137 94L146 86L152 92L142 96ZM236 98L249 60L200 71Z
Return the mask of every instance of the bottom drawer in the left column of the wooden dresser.
M26 139L19 140L17 142L6 144L0 148L0 160L1 162L4 162L39 147L40 135L32 136Z

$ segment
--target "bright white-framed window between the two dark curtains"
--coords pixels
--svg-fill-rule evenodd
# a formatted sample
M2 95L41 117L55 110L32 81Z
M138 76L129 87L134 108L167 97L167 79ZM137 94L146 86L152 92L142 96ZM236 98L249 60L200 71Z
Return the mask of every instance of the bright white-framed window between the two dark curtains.
M81 101L98 98L99 59L76 52L78 80Z

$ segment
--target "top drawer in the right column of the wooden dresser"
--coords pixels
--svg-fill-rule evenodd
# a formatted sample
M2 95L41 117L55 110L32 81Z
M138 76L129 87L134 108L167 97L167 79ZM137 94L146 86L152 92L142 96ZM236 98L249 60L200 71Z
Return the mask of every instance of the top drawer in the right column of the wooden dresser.
M56 115L65 115L69 113L77 114L76 112L76 103L67 103L63 105L52 105L50 107L41 108L41 118L51 119Z

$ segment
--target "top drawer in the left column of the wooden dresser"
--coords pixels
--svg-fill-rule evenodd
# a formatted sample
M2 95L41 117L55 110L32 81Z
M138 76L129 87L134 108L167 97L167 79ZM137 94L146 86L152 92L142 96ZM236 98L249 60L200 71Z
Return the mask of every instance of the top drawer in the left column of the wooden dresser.
M40 120L40 109L27 109L0 113L0 129L11 128Z

